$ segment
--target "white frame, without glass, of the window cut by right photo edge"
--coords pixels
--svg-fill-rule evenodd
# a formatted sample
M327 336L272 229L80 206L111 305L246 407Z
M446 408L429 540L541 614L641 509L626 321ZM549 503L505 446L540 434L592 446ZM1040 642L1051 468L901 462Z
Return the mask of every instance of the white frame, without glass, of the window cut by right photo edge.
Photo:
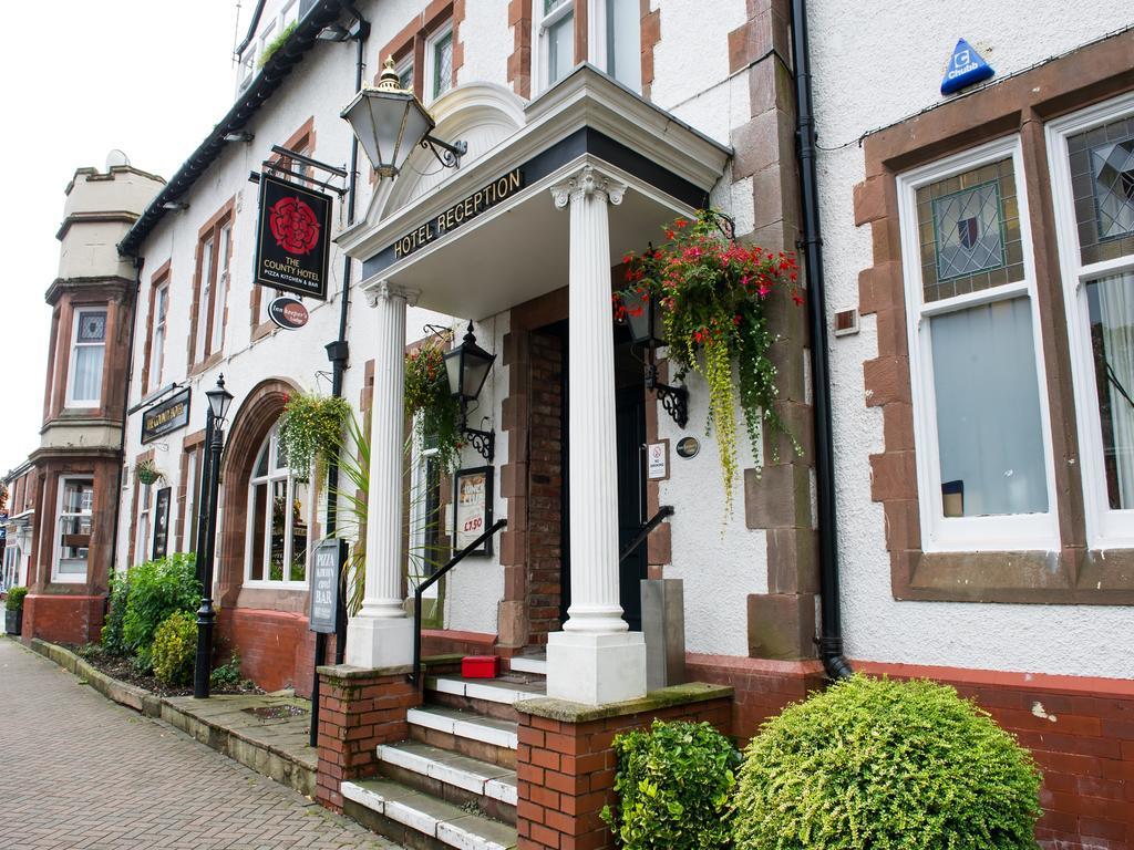
M1056 244L1059 247L1059 271L1070 346L1080 468L1086 507L1086 543L1091 549L1100 550L1134 547L1134 509L1111 508L1107 493L1085 283L1134 271L1134 254L1086 265L1082 263L1070 163L1067 161L1067 138L1131 113L1134 113L1134 93L1051 121L1044 128L1056 213Z

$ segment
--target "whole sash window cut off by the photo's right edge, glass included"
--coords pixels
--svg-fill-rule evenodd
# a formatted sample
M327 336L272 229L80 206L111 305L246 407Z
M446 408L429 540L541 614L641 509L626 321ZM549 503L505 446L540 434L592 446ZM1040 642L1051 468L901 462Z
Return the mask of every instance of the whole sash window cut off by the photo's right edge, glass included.
M1134 95L1047 127L1088 543L1134 546Z

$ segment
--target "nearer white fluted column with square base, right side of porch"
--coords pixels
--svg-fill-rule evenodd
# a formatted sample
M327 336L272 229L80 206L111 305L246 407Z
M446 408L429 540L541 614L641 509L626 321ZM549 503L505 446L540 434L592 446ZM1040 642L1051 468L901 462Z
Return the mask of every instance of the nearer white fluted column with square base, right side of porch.
M570 209L568 296L570 607L548 636L548 696L601 705L645 694L645 641L619 604L615 342L608 204L621 184L591 165L552 188Z

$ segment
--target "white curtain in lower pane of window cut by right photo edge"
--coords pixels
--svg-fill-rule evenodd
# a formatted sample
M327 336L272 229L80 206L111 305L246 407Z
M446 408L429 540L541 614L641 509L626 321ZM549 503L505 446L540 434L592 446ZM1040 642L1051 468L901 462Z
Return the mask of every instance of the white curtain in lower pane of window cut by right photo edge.
M1100 325L1106 366L1111 382L1134 398L1134 273L1099 281ZM1110 394L1115 466L1118 469L1120 508L1134 508L1134 406L1111 383L1099 388L1099 398Z

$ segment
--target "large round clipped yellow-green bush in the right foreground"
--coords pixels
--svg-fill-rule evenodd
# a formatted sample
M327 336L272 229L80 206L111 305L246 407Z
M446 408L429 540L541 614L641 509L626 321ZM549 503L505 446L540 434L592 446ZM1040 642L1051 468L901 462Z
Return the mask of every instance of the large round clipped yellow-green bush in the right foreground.
M855 675L745 753L737 850L1034 850L1031 755L953 688Z

